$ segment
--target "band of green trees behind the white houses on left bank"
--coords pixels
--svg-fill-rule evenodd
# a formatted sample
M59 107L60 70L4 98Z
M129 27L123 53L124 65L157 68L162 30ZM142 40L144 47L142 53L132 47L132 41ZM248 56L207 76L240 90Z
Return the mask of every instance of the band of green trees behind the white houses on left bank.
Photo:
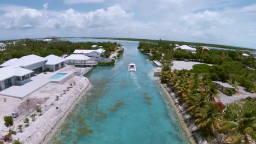
M9 42L9 41L6 41ZM25 45L26 46L25 46ZM42 40L20 40L15 45L8 44L6 46L7 50L0 51L0 64L4 61L8 61L11 58L20 58L26 55L38 55L38 56L48 56L48 55L56 55L62 56L63 54L71 54L75 49L98 49L98 47L91 47L92 45L100 45L104 47L106 50L106 55L108 53L114 52L118 49L120 44L117 43L71 43L70 41L61 41L61 40L54 40L51 43L42 41ZM107 57L105 55L105 57Z

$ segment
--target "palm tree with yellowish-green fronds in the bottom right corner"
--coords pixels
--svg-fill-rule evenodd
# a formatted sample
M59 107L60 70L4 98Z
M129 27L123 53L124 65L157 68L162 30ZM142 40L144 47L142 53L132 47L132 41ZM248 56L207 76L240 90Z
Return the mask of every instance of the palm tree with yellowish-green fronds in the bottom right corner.
M226 121L220 130L229 131L230 135L224 140L225 143L249 143L248 137L256 141L256 116L241 118L238 123Z

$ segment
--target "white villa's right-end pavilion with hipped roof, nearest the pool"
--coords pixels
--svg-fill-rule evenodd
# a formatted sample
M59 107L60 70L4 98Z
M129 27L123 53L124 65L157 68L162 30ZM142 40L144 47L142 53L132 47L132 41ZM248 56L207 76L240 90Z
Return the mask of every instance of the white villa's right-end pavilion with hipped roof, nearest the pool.
M45 63L45 70L56 71L65 67L65 58L58 57L55 55L49 55L45 57L47 62Z

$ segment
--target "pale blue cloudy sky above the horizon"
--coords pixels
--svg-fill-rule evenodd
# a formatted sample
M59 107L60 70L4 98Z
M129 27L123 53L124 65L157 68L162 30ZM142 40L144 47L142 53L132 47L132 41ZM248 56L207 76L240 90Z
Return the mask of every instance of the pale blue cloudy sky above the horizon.
M0 39L143 38L256 49L255 0L1 0Z

